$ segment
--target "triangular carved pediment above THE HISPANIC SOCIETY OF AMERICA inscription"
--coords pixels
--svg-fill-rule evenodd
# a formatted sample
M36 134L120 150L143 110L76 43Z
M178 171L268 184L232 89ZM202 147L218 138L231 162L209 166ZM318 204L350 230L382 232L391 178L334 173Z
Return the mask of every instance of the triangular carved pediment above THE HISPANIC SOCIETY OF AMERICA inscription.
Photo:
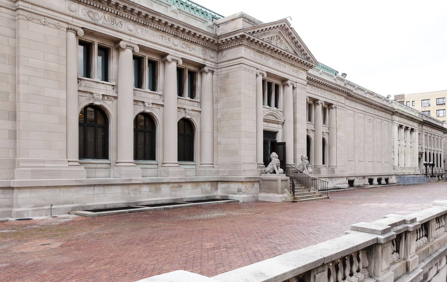
M248 27L245 32L270 43L279 49L285 50L299 58L318 64L316 58L301 40L299 35L290 26L289 21L280 20L266 24Z

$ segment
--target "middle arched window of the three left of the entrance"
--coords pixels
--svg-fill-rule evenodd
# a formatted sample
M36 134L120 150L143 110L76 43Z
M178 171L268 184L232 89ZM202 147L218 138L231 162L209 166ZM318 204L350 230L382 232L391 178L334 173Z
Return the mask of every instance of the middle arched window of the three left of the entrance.
M155 123L143 113L134 120L134 159L155 161Z

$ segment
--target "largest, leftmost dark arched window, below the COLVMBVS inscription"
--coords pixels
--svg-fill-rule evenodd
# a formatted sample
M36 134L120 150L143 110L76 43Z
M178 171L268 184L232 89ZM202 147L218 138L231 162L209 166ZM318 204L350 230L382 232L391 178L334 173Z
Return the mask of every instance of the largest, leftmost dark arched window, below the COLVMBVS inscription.
M109 122L98 107L89 105L79 114L79 158L109 158Z

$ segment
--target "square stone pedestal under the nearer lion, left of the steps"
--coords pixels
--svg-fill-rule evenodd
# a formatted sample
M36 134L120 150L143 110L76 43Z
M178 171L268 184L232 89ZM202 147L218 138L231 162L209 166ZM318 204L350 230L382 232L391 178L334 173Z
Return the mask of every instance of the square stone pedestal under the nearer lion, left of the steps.
M282 202L289 189L286 174L261 174L259 178L258 199L267 202Z

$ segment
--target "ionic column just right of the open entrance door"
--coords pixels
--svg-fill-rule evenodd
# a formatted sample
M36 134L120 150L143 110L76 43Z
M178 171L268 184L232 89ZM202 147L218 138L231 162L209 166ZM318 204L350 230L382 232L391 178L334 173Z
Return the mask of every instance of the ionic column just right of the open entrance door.
M283 81L284 86L284 127L283 137L286 142L286 164L293 165L293 88L296 83L291 80Z

